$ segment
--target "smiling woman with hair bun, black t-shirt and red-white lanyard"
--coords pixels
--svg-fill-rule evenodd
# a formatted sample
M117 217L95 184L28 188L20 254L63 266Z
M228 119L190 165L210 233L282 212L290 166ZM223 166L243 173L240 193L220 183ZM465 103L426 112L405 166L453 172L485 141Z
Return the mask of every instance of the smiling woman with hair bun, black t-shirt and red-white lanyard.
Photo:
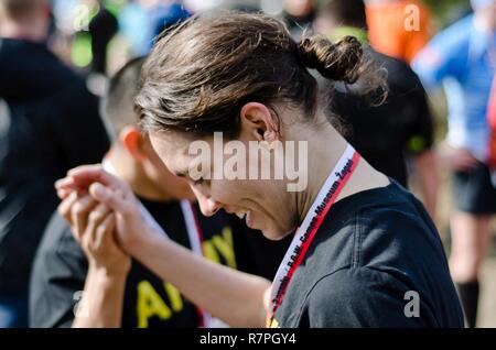
M270 239L293 237L272 285L154 234L129 188L99 167L76 168L57 183L66 198L62 214L76 234L90 234L68 196L89 190L108 215L116 214L114 234L125 252L230 326L463 327L429 215L328 123L309 68L357 92L377 92L382 81L354 37L331 43L304 36L296 43L270 17L227 12L165 32L145 63L137 98L143 131L163 163L190 181L204 215L225 209ZM225 144L235 142L238 153L246 150L238 166L267 163L270 174L280 165L272 145L282 144L285 165L305 165L305 186L289 190L291 174L218 176L226 153L197 166L191 144L200 140L215 151L214 132ZM249 152L250 142L269 151L251 162L259 154ZM289 152L291 142L305 144L303 153ZM111 220L100 222L97 240L109 234Z

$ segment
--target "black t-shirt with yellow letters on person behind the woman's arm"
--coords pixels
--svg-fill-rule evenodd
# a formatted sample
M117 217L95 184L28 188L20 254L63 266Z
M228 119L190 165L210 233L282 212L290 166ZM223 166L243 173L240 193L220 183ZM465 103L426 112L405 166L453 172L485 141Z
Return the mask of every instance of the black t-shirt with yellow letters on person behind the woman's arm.
M169 237L181 245L190 240L179 203L141 200ZM203 217L195 207L207 259L272 278L289 241L272 242L235 216ZM69 327L87 273L87 260L62 217L54 215L36 254L31 281L32 327ZM193 282L192 282L193 283ZM196 308L171 284L132 261L126 283L122 327L196 327Z

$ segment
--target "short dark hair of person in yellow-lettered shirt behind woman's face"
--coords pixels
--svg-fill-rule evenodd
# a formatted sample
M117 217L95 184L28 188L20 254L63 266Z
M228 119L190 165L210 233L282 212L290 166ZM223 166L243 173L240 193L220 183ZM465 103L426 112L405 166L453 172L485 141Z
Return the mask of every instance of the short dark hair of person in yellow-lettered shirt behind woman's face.
M143 63L144 57L131 59L110 78L103 103L103 118L112 141L119 139L125 127L138 122L134 98L140 89Z

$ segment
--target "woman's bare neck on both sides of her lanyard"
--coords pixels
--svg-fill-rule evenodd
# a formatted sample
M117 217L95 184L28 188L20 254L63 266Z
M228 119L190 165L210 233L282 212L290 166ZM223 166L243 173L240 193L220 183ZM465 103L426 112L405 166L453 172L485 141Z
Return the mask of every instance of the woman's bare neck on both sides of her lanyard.
M348 145L346 140L328 122L319 125L317 132L310 130L306 140L309 143L309 182L306 190L296 194L300 222L303 221L326 178ZM364 158L360 158L336 201L363 190L385 187L389 183L386 175L377 172Z

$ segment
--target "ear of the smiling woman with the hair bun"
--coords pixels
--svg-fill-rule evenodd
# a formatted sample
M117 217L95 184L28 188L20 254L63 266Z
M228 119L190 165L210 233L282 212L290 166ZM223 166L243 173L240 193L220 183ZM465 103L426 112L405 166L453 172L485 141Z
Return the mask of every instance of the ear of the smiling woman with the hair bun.
M241 130L252 135L257 141L269 143L279 140L279 122L267 106L248 102L240 112Z

